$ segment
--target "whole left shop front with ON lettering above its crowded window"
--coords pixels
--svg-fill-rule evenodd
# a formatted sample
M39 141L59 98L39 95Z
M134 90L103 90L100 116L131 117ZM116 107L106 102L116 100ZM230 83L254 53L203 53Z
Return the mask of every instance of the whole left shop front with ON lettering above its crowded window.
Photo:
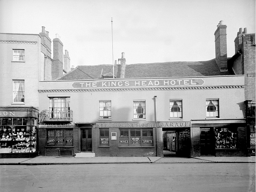
M0 158L38 155L37 117L33 107L0 107Z

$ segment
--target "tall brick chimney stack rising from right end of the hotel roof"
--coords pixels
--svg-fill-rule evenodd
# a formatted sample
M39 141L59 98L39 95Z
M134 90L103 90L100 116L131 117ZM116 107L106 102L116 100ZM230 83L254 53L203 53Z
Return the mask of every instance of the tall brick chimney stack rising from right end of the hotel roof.
M220 21L214 33L215 59L221 72L228 71L226 28L223 21Z

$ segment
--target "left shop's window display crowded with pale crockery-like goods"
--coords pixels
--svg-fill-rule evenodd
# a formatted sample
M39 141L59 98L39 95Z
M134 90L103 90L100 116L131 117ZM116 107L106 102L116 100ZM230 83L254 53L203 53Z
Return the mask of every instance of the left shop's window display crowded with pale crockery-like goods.
M36 151L35 118L0 118L0 120L0 153Z

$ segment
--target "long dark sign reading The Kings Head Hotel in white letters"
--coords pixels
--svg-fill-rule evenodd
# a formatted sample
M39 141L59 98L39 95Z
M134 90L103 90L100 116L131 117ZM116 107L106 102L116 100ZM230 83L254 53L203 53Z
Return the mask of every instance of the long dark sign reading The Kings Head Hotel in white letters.
M160 79L160 80L108 80L74 82L73 88L110 88L110 87L143 87L143 86L202 86L203 79Z

